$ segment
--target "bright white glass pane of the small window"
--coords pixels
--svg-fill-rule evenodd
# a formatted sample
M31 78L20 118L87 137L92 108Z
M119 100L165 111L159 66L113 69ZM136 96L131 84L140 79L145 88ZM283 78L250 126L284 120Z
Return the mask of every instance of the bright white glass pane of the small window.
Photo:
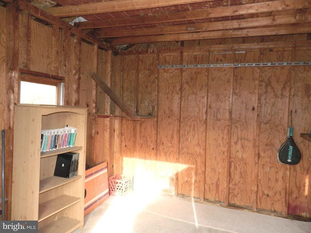
M57 86L20 82L20 103L57 104Z

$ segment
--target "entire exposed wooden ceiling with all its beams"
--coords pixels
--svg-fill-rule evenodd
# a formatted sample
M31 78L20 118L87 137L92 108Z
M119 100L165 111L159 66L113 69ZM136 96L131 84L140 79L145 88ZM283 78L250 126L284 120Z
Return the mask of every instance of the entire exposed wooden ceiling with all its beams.
M22 2L22 1L20 1ZM31 0L118 52L137 44L311 33L311 0ZM32 13L33 14L33 13ZM39 12L39 16L42 14ZM78 21L78 22L76 22ZM82 22L83 21L83 22Z

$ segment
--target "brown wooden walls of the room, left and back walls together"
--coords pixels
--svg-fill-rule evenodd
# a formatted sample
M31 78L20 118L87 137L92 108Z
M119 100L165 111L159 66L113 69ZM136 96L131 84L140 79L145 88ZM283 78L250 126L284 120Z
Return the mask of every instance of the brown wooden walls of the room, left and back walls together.
M177 48L177 42L163 43L164 50L157 48L158 43L150 46L152 50L115 56L68 27L24 1L0 7L0 128L6 131L7 219L19 68L64 78L65 105L89 108L86 163L107 161L109 176L134 176L135 188L142 191L310 218L311 143L299 137L311 132L310 66L157 67L311 61L306 37L191 41L185 48ZM273 43L261 46L267 41ZM278 41L285 42L278 45ZM248 48L245 43L253 45ZM141 120L119 116L120 108L89 78L93 71L143 116ZM296 166L276 160L286 139L290 110L302 153Z

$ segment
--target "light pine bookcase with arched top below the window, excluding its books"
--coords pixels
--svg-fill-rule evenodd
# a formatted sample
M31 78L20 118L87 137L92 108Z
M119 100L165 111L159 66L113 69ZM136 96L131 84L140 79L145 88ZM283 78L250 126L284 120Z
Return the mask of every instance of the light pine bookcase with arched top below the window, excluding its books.
M11 220L37 220L40 233L84 225L87 108L17 104L14 114ZM40 152L41 131L71 126L75 146ZM79 153L77 175L54 176L57 155Z

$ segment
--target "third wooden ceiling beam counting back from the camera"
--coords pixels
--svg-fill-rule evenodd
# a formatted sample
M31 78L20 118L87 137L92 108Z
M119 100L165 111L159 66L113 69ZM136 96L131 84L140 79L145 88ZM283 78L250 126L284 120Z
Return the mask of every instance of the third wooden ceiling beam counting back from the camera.
M239 20L229 20L210 23L197 23L187 25L149 27L128 30L100 30L95 31L94 36L97 38L110 38L122 36L142 36L142 35L159 35L173 33L194 33L228 29L242 29L255 27L271 27L277 25L287 25L296 23L311 22L311 9L303 14L292 14L274 17L248 18Z

